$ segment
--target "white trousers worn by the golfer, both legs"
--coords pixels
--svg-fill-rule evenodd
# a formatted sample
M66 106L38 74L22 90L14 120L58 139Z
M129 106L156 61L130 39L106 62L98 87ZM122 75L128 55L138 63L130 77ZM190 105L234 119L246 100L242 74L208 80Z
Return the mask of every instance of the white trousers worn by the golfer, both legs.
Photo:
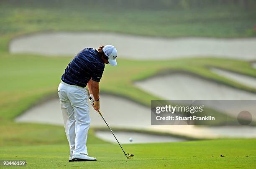
M69 141L70 157L87 154L87 133L90 127L88 92L85 88L61 81L58 88L64 127Z

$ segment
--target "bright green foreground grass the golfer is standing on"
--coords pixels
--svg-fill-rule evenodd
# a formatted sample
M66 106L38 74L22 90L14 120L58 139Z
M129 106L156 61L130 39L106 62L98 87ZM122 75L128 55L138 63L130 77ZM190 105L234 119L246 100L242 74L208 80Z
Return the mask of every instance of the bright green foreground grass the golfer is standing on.
M63 145L0 147L0 159L27 160L28 168L255 168L256 139L125 144L135 154L127 160L118 144L88 144L93 162L67 162ZM225 157L220 157L223 154ZM248 157L246 157L248 156Z

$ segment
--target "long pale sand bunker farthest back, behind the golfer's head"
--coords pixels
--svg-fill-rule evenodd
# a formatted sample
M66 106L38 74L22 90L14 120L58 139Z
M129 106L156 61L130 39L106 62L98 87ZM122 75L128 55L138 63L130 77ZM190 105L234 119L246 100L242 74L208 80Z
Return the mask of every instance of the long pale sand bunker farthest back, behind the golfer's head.
M75 55L84 47L113 44L118 56L132 59L181 57L256 58L256 38L150 38L118 33L36 33L11 41L10 53ZM145 50L146 49L146 50ZM166 52L168 50L168 52Z

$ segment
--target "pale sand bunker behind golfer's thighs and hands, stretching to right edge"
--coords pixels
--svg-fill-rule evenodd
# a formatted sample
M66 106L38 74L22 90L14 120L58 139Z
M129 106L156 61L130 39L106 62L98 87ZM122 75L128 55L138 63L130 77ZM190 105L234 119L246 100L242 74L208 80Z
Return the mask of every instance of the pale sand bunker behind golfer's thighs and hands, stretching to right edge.
M195 138L246 137L256 136L256 127L197 127L197 126L151 126L150 108L136 104L125 98L100 95L101 111L111 127L143 129L168 132ZM116 105L116 108L109 105ZM101 117L90 109L91 126L106 127ZM51 99L18 116L17 122L55 124L63 126L59 99ZM115 131L114 131L115 132ZM173 139L173 138L172 138Z

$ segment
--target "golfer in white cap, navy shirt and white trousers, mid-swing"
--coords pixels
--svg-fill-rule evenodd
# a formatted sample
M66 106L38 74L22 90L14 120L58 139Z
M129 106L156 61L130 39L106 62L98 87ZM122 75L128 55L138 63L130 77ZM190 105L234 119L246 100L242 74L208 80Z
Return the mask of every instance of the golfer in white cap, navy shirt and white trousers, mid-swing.
M99 82L105 64L116 66L117 50L112 45L100 46L98 50L84 48L68 64L58 87L64 127L69 141L71 161L96 161L88 156L86 141L90 127L90 104L100 111Z

